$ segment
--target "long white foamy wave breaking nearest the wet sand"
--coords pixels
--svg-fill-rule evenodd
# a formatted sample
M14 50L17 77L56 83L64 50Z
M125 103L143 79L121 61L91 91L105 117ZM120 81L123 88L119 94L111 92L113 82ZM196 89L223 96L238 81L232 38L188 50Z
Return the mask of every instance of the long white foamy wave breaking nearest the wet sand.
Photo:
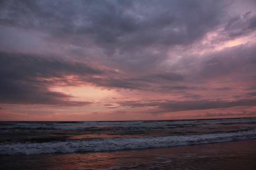
M256 139L256 130L218 132L201 135L177 135L165 137L133 137L86 140L55 140L38 143L36 141L2 142L0 155L32 155L44 153L101 152L124 149L161 148L193 144L210 144L245 139Z

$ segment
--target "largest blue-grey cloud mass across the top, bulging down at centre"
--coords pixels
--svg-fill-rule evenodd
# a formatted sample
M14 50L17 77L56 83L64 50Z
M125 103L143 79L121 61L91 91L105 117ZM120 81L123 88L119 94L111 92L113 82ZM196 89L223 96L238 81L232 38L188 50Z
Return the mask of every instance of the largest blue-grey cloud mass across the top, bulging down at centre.
M40 31L51 42L100 48L116 67L141 72L164 60L171 46L218 26L224 7L219 0L13 0L3 2L0 23Z

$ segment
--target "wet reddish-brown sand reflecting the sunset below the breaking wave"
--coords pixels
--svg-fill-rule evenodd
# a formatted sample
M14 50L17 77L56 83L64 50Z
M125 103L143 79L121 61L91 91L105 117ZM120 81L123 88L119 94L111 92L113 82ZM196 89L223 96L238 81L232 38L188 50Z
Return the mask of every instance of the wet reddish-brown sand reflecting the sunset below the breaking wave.
M255 170L256 139L215 144L0 157L2 170Z

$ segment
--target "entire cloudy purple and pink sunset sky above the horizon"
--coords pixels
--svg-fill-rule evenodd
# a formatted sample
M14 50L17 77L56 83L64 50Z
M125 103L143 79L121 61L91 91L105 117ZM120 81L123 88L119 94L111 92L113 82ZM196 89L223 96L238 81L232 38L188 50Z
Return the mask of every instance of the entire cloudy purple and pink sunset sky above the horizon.
M254 0L2 0L1 121L256 117Z

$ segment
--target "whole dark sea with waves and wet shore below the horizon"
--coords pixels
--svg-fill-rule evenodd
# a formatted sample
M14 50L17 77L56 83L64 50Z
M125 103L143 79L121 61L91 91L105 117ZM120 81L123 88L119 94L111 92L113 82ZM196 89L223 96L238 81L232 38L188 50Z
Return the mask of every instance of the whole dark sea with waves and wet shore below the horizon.
M255 170L256 117L0 121L1 170Z

